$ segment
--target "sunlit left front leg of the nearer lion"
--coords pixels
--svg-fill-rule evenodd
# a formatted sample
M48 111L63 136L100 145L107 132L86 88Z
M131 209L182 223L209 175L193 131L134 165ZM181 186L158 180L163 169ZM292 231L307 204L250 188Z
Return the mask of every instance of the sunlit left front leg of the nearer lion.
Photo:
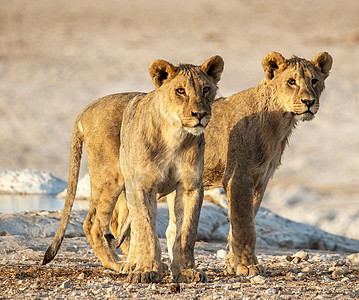
M131 241L126 260L129 281L160 282L163 265L156 233L156 193L126 185L126 197L131 218Z

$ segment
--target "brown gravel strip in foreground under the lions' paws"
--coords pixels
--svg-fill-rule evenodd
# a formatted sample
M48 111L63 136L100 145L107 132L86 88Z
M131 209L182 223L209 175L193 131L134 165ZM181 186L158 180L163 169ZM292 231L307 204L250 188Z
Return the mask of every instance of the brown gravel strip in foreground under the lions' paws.
M6 242L5 242L6 241ZM84 237L67 238L53 262L40 265L49 238L0 237L1 299L357 299L359 255L260 248L265 276L234 277L225 271L224 243L198 242L197 267L207 283L175 284L166 272L159 284L133 284L104 270ZM7 246L5 246L5 244ZM17 244L17 246L14 246ZM26 244L26 248L21 244ZM163 259L168 262L165 240ZM11 247L14 246L13 250ZM16 249L16 251L14 251Z

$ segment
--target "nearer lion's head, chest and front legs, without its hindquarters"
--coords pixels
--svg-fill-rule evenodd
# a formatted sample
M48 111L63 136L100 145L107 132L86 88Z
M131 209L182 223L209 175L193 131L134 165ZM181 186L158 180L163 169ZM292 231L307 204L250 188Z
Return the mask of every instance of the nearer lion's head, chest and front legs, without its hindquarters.
M151 75L158 89L127 105L121 128L120 166L131 218L127 268L134 281L162 279L156 233L157 195L176 191L175 281L205 281L194 268L194 244L203 201L204 129L223 61L201 67L157 61ZM151 95L152 94L152 95Z

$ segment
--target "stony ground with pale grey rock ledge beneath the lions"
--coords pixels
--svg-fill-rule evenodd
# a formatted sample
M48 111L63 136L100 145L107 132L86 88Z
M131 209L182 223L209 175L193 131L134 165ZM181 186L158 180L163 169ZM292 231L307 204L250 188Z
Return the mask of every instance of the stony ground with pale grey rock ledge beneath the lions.
M0 299L351 299L359 296L358 240L284 219L266 209L261 208L256 218L257 256L266 273L245 278L226 273L225 209L204 203L195 256L197 267L207 273L208 282L192 284L173 283L169 272L164 274L162 283L134 284L125 275L104 270L84 237L82 223L86 210L72 212L58 255L42 266L60 216L61 211L0 213ZM157 232L162 258L169 263L163 238L167 223L168 209L165 203L160 203ZM308 248L311 249L305 250Z

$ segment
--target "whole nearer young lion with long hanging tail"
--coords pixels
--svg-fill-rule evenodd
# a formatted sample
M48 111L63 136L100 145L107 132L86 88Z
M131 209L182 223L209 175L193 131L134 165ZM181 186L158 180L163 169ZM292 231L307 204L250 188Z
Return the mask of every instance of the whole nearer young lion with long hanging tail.
M214 56L202 66L176 67L156 60L149 71L157 87L154 91L110 95L93 102L78 116L65 207L43 264L55 257L64 237L84 143L91 184L84 231L103 266L130 273L133 282L161 281L156 195L175 190L178 232L171 264L173 277L179 282L205 281L205 274L195 269L193 250L203 201L203 131L211 118L223 60ZM124 189L132 238L126 262L119 262L105 235Z

